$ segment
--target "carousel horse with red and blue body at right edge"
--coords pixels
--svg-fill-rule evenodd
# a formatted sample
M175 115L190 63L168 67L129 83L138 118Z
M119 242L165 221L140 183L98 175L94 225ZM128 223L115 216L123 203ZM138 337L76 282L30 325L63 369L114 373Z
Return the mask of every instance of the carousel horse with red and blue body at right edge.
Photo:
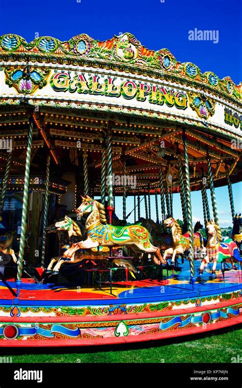
M226 240L226 243L221 243L221 229L212 219L209 222L206 220L206 230L208 234L206 256L202 259L200 274L203 273L204 265L212 260L212 275L215 274L217 262L230 262L232 264L232 268L236 270L237 268L234 265L234 260L238 262L242 261L242 258L239 256L237 245L232 239Z

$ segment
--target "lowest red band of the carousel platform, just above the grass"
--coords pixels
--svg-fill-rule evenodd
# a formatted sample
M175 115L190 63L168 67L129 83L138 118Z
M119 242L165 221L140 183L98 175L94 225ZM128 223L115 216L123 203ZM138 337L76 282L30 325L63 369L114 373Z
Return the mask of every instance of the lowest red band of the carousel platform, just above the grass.
M184 335L199 334L207 331L218 330L225 327L234 326L242 323L242 317L232 318L223 322L207 325L206 330L203 326L187 329L178 329L165 331L154 334L130 335L128 337L106 337L106 338L91 338L88 340L38 340L38 341L15 341L15 340L0 340L0 347L56 347L56 346L91 346L91 345L113 345L113 344L127 344L132 342L156 341L165 340L166 338L176 338ZM66 344L68 342L68 344Z

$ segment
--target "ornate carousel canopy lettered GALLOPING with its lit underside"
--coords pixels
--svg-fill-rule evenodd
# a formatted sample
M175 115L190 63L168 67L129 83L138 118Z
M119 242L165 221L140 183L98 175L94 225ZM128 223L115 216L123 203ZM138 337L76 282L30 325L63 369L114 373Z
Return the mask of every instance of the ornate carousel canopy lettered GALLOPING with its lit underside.
M179 191L177 155L183 156L185 130L190 185L200 189L210 155L215 186L241 177L241 84L202 73L181 63L166 48L144 47L132 34L106 41L86 34L61 42L38 37L27 43L14 34L0 37L0 160L14 148L12 172L22 174L28 141L29 108L34 130L31 171L44 171L46 150L52 174L83 174L88 155L90 186L100 193L101 153L107 126L112 128L115 193L159 188L159 168L171 174ZM10 142L11 140L11 142ZM10 144L11 143L11 144Z

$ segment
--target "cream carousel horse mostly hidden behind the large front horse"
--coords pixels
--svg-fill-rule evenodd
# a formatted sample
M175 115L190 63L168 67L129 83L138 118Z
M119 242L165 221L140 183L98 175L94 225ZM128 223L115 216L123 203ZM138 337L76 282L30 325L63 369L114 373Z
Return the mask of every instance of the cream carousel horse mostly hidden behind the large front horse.
M78 226L78 224L75 221L73 221L67 215L65 215L65 218L63 221L55 223L55 228L56 228L57 232L67 232L68 233L69 245L68 244L64 245L62 247L62 251L66 251L67 249L69 249L71 244L75 243L76 239L78 237L79 237L78 240L80 240L80 236L82 238L82 232L81 232L80 227ZM49 229L49 232L54 232L54 228L52 225L47 229ZM77 251L73 260L66 260L64 262L77 263L77 262L81 262L82 260L85 260L87 258L92 259L92 260L106 259L106 254L107 254L107 252L109 252L109 249L107 247L98 247L98 248L91 248L91 251L95 252L95 255L92 254L92 255L87 256L86 254L84 255L81 251ZM104 256L104 254L105 254L105 256ZM56 263L56 265L53 269L53 265L55 263ZM122 258L122 259L117 258L117 259L113 260L113 263L116 264L117 266L124 266L125 268L127 268L129 270L130 274L133 277L135 277L134 273L136 272L136 270L135 270L134 266L128 260L126 260L124 258ZM48 273L52 272L53 275L57 274L59 272L61 264L63 264L62 256L53 257L51 259L50 264L47 266L45 273L48 274Z

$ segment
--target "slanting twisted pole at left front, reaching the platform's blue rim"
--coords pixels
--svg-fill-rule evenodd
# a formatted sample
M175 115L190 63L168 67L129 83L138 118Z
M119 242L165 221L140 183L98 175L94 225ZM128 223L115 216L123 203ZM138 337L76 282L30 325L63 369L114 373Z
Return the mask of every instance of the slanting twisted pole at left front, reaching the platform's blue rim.
M19 242L19 254L18 254L18 269L17 269L17 281L18 286L21 284L22 277L22 263L23 253L25 249L25 233L26 233L26 222L28 212L28 195L29 195L29 179L30 179L30 161L31 161L31 145L32 145L32 134L33 134L33 118L30 118L30 128L27 145L27 155L25 163L25 184L23 186L23 202L22 202L22 219L21 219L21 234ZM19 289L18 289L19 292Z

